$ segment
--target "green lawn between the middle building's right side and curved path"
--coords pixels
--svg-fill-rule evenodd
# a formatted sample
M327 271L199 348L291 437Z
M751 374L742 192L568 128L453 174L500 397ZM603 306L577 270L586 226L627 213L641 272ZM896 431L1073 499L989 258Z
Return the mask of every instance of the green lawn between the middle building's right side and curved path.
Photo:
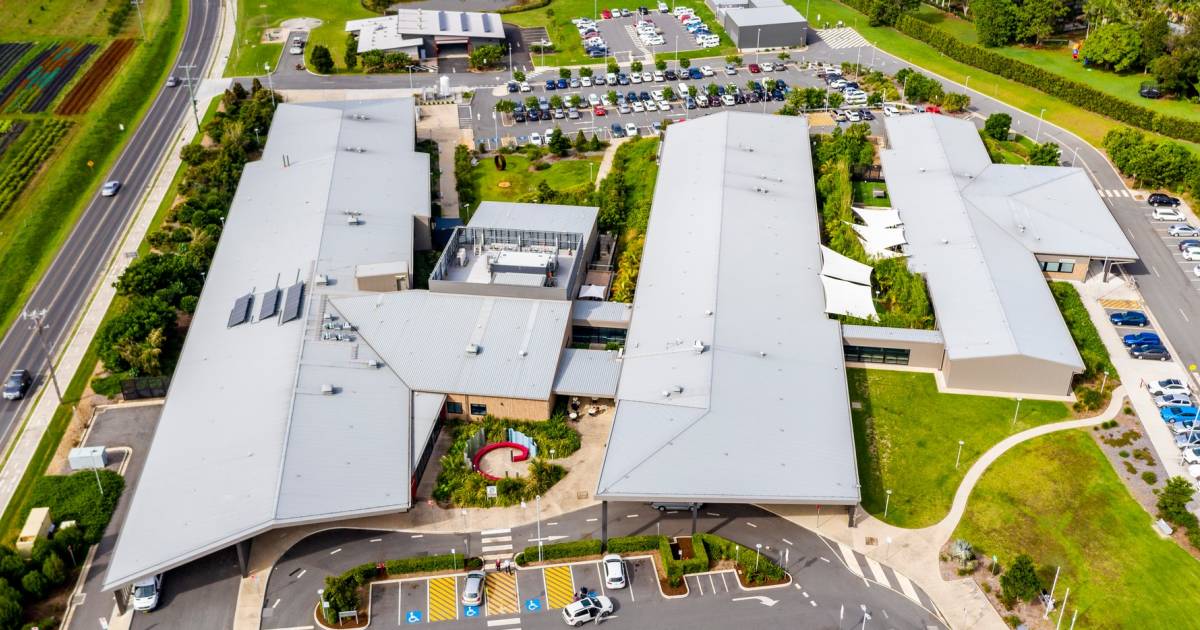
M851 402L862 403L852 415L863 508L882 518L890 488L884 521L899 527L926 527L946 516L962 475L1001 439L1067 418L1063 403L1024 401L1013 428L1012 398L940 394L934 376L923 372L846 374Z

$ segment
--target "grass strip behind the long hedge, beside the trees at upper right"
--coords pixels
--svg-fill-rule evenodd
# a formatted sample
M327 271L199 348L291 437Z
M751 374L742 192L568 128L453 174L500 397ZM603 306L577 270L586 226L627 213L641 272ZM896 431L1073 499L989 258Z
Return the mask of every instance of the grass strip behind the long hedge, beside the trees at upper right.
M923 22L936 25L950 35L954 35L955 38L961 40L962 42L978 43L978 40L976 38L974 24L962 18L943 13L936 7L929 5L922 5L918 17ZM1108 92L1118 98L1123 98L1130 103L1150 107L1154 112L1189 120L1200 120L1200 107L1196 107L1187 101L1174 101L1170 98L1148 101L1138 96L1138 89L1141 86L1141 83L1145 80L1153 80L1153 76L1142 74L1140 72L1117 74L1116 72L1110 72L1098 67L1085 68L1082 61L1075 61L1070 58L1070 46L1060 44L1046 46L1043 48L1004 46L992 48L992 50L1018 61L1024 61L1043 70L1049 70L1056 74L1062 74L1072 80L1087 84L1091 88Z

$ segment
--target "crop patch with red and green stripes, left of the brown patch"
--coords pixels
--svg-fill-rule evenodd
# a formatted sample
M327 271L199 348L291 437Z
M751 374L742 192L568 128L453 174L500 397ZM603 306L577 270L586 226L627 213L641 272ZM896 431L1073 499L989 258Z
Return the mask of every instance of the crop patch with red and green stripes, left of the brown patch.
M96 44L84 42L46 47L0 88L0 108L6 113L44 112L96 48Z

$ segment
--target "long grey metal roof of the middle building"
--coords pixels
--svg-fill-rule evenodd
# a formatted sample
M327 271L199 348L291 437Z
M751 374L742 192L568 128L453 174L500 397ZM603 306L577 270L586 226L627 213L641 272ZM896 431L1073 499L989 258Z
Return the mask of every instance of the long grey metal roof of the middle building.
M808 131L668 127L598 498L858 503Z

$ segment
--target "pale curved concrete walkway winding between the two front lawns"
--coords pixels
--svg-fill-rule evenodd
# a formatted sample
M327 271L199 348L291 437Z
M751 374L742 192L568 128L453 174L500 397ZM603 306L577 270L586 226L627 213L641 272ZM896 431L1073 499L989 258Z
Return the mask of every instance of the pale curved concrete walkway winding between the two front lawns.
M946 517L929 527L905 529L866 515L858 527L852 529L841 511L826 512L822 516L820 512L812 514L809 506L764 505L763 508L834 541L848 545L854 551L904 574L929 594L950 628L1004 629L1008 626L988 601L988 598L979 590L974 580L966 577L947 582L942 578L938 563L942 546L954 534L954 529L966 512L971 492L992 462L1024 442L1058 431L1086 428L1112 420L1120 413L1124 400L1124 386L1118 386L1112 390L1112 400L1108 408L1098 415L1037 426L1000 440L967 469L954 493L954 500ZM871 540L870 545L868 545L869 539Z

